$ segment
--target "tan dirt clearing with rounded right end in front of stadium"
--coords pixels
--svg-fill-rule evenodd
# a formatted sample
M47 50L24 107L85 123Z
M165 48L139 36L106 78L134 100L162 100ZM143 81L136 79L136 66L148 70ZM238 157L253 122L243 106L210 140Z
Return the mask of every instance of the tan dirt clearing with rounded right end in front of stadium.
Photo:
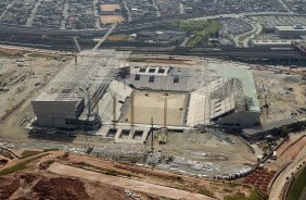
M234 143L220 141L211 133L168 133L167 143L155 143L165 155L180 157L195 162L211 162L219 165L218 171L183 171L208 176L237 173L246 165L256 164L256 154L237 136L229 136ZM149 138L150 139L150 138ZM150 141L148 141L150 143Z

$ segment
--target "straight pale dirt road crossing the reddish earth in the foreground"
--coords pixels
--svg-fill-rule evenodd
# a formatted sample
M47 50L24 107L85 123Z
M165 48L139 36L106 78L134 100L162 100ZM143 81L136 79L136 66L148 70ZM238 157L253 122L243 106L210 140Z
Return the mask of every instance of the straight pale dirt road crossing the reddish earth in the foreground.
M190 191L174 189L165 186L154 185L145 182L128 179L123 177L110 176L95 172L90 172L60 163L53 163L49 171L59 175L66 175L79 177L91 182L99 182L102 184L126 188L129 190L150 193L157 197L170 199L192 199L192 200L213 200L214 198L206 197L200 193L192 193Z

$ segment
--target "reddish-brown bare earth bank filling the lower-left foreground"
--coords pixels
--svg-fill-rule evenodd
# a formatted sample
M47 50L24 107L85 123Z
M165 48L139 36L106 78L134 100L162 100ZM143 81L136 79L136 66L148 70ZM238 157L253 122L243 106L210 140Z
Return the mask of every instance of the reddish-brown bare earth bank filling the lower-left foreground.
M26 170L0 176L0 199L225 199L251 193L251 187L243 185L230 186L63 151L35 157L38 160L28 163ZM229 186L234 189L226 189Z

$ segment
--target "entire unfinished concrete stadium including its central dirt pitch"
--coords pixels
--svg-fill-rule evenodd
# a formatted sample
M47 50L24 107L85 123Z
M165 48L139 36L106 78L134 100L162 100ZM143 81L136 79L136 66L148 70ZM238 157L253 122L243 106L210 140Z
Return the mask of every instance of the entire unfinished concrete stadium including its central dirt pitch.
M113 50L80 52L77 63L61 71L31 102L35 125L69 129L104 125L105 137L145 140L138 130L148 133L152 120L174 129L245 128L258 123L260 110L248 68L208 62L132 63L129 55Z

